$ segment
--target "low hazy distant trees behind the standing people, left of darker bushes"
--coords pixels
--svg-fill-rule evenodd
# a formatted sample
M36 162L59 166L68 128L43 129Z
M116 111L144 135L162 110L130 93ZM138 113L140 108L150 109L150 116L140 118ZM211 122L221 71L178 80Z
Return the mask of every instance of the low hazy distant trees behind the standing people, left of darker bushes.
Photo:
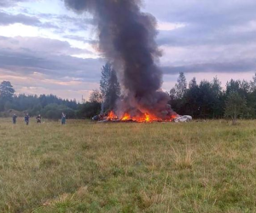
M64 100L55 95L15 95L15 89L9 81L0 83L1 117L29 113L30 116L40 114L44 118L58 119L64 112L68 118L76 118L78 110L79 104L75 100Z

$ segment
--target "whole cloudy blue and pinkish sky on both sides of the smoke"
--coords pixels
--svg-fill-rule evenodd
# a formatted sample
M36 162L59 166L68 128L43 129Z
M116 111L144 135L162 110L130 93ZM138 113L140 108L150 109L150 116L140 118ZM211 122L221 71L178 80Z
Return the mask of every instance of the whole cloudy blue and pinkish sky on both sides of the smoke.
M255 0L145 0L158 21L162 89L184 72L187 81L218 77L250 81L256 72ZM88 99L99 89L104 60L90 14L62 0L0 0L0 82L18 94Z

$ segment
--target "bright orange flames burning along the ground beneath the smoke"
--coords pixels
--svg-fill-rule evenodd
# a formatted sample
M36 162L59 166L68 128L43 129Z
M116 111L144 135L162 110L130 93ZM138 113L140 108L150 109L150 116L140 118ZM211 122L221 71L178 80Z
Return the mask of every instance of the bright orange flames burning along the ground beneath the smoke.
M108 113L107 119L110 121L134 121L138 123L150 123L154 121L172 121L177 118L176 114L171 115L169 118L162 119L157 118L154 114L144 113L141 116L132 117L129 113L125 113L121 118L119 118L113 111Z

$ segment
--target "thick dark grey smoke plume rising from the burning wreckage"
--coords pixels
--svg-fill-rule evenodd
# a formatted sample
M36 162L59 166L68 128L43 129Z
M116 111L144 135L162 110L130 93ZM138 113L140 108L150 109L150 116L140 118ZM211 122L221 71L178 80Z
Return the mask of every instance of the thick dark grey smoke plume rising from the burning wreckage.
M119 114L153 113L165 118L172 113L169 96L160 91L162 72L155 61L160 51L155 43L156 20L140 10L138 0L64 0L77 13L93 15L99 33L99 48L113 62L125 98Z

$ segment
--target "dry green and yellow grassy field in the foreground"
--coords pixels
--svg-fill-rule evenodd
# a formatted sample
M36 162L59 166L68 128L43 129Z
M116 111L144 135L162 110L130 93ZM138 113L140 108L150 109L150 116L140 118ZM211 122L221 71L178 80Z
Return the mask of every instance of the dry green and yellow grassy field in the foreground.
M256 212L256 121L0 119L0 212Z

